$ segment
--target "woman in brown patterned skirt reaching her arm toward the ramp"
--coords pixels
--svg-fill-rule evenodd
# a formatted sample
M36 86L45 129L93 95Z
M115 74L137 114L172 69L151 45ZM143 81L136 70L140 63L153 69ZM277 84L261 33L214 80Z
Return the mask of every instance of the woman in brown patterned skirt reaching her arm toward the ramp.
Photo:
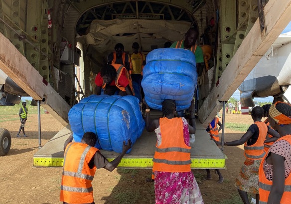
M251 112L254 124L249 127L241 139L232 142L224 142L225 146L239 146L245 144L244 154L246 160L235 184L244 204L250 203L248 193L256 194L256 203L259 204L259 167L266 154L264 152L264 141L267 133L279 137L279 134L275 130L267 127L267 125L261 121L263 115L264 109L262 107L254 107ZM214 142L217 145L221 145L221 142Z

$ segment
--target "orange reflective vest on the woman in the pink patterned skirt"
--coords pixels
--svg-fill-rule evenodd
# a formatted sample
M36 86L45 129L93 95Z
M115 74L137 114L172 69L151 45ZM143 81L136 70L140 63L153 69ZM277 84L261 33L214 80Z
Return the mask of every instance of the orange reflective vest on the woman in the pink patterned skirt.
M159 172L190 172L190 151L184 142L183 121L181 118L159 119L162 141L155 145L152 159L153 171Z

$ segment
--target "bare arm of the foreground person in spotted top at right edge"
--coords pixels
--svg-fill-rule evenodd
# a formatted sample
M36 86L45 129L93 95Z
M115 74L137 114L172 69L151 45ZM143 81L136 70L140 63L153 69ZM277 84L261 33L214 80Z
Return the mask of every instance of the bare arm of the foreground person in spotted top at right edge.
M267 204L280 204L284 193L285 184L285 169L284 157L271 153L271 160L273 164L273 185L268 198Z

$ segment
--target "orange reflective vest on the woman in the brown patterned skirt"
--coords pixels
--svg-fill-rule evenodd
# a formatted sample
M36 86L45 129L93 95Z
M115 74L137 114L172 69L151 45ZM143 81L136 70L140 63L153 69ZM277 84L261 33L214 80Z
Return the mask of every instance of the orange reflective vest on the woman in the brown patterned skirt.
M262 121L256 121L255 124L260 131L259 137L257 142L251 146L247 146L247 142L245 142L245 157L252 160L260 160L266 154L266 152L264 152L264 141L268 132L268 127Z

